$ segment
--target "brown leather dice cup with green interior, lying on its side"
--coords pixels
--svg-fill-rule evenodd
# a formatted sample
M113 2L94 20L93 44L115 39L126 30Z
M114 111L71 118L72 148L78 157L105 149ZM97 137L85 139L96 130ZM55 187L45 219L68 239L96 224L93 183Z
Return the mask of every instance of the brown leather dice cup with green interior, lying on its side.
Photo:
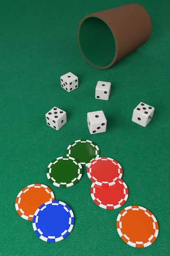
M152 24L139 4L86 15L79 23L79 48L91 65L106 69L146 43Z

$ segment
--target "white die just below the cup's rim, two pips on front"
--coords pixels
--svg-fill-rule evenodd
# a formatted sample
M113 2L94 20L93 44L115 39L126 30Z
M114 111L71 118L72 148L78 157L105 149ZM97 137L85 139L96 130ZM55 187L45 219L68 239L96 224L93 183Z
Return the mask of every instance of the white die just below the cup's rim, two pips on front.
M110 82L98 81L95 89L95 99L104 99L105 101L108 101L110 88Z

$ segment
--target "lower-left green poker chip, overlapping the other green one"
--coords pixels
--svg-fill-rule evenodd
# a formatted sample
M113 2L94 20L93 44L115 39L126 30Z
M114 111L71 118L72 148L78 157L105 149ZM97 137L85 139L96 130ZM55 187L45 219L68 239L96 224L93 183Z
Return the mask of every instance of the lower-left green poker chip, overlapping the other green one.
M82 177L82 165L74 157L57 157L49 164L46 175L54 186L73 186Z

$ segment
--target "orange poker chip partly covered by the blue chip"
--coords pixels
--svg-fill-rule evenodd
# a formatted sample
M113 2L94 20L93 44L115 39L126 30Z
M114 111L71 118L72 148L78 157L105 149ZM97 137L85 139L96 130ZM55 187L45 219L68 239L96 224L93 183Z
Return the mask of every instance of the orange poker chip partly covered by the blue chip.
M31 184L20 191L15 209L25 220L33 220L35 211L45 202L55 200L53 191L44 184Z

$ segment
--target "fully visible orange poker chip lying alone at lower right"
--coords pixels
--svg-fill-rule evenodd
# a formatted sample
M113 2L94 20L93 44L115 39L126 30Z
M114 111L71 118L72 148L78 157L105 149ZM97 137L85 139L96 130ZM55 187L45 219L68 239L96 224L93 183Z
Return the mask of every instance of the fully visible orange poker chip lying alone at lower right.
M155 216L146 208L132 205L117 216L117 232L132 247L147 247L155 242L159 227Z

